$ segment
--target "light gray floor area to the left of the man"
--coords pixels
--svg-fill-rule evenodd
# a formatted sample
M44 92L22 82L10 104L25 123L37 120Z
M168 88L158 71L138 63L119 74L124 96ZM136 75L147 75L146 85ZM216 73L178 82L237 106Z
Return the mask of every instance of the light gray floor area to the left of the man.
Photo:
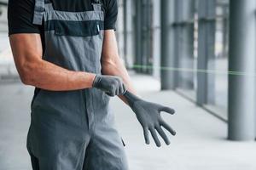
M26 152L32 88L0 84L0 170L31 169Z

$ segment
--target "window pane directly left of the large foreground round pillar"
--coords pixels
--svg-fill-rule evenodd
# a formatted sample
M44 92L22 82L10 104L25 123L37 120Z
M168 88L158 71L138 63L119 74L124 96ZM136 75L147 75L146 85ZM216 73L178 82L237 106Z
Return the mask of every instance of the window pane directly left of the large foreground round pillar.
M228 3L217 3L215 56L208 60L208 65L214 70L208 78L207 109L227 119L228 104L228 30L229 30Z

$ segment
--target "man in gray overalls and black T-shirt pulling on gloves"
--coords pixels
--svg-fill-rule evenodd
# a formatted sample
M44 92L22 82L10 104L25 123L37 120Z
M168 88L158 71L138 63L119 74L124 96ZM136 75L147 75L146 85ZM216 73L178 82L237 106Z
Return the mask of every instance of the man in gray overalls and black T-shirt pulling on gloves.
M171 108L138 98L119 59L117 0L9 0L9 40L21 81L36 87L27 149L37 170L126 170L108 96L156 132L175 132L160 117Z

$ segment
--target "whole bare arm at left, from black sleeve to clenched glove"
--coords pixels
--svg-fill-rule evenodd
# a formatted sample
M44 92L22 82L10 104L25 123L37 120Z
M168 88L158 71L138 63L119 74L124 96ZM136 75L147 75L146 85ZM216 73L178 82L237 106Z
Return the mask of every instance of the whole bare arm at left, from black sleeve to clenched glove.
M39 34L14 34L9 40L20 79L26 85L52 91L91 88L95 75L68 71L42 59Z

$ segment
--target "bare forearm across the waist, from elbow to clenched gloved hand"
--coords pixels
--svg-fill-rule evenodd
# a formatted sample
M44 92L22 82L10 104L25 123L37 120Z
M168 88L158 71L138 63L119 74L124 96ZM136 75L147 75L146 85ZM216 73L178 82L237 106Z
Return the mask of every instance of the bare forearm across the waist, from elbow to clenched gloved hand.
M22 82L52 91L91 88L95 75L82 71L68 71L43 59L23 65Z

